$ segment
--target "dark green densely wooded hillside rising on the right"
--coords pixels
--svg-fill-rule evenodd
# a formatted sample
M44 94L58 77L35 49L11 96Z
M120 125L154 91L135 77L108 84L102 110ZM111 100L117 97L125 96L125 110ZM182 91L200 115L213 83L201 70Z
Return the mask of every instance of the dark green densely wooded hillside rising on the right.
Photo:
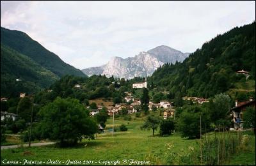
M255 82L255 22L216 36L182 63L164 64L148 82L173 94L210 97L246 82L239 70Z

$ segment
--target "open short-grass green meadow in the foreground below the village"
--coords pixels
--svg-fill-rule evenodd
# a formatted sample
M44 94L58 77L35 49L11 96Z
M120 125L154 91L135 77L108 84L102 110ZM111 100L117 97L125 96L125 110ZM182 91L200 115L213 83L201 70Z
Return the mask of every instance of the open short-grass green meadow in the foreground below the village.
M145 117L144 117L145 118ZM115 126L125 124L128 127L127 132L115 132L113 137L112 133L108 132L97 134L95 140L84 139L76 147L60 148L56 146L44 146L44 147L20 147L17 149L1 150L1 164L8 161L20 161L23 164L23 160L32 161L60 161L60 165L65 164L67 160L77 160L82 163L79 165L104 165L103 161L116 161L120 160L120 165L128 165L123 160L134 161L149 161L149 165L184 165L194 164L193 157L182 157L182 160L173 158L172 154L177 156L186 156L189 149L198 149L199 140L188 140L180 138L179 133L174 133L170 137L152 137L152 131L140 130L140 126L144 121L144 118L132 117L131 121L124 121L122 117L115 119ZM109 118L107 122L107 128L111 128L112 119ZM158 131L156 132L158 133ZM255 136L254 146L255 146ZM246 151L252 156L255 155L252 151ZM247 158L250 155L241 153L239 158ZM236 155L237 156L237 155ZM239 164L239 160L234 158L230 163ZM255 163L255 157L243 160L245 164ZM57 161L57 162L58 162ZM85 162L83 164L83 161ZM86 161L88 163L86 164ZM113 165L111 163L110 165ZM228 164L228 163L227 163ZM4 165L4 164L3 164ZM45 163L42 163L45 165ZM47 165L55 165L55 163L49 163ZM76 164L69 164L76 165ZM108 163L107 163L108 165ZM137 164L133 164L137 165ZM143 164L148 165L148 164Z

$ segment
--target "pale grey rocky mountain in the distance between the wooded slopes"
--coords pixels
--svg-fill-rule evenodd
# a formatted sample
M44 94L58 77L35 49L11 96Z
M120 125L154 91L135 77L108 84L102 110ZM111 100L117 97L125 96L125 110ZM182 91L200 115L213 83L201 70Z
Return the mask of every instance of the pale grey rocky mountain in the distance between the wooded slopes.
M182 53L179 50L161 45L147 52L140 52L134 57L112 57L111 60L102 66L86 68L82 71L88 75L106 75L107 77L132 79L134 77L145 77L162 66L164 63L182 62L189 53Z

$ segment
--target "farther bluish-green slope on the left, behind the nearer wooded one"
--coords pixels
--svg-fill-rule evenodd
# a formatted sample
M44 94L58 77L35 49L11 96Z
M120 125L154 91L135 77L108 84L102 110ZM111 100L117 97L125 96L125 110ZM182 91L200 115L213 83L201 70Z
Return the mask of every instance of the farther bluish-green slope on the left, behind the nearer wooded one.
M11 31L1 27L1 43L24 56L30 57L58 77L63 75L85 76L83 72L63 62L56 54L45 49L40 43L21 31Z

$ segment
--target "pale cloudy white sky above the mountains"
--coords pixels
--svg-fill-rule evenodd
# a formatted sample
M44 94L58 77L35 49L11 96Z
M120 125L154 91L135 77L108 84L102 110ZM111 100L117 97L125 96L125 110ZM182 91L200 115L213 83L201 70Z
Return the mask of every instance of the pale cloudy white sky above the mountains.
M84 69L167 45L194 52L255 21L255 1L1 1L1 27Z

